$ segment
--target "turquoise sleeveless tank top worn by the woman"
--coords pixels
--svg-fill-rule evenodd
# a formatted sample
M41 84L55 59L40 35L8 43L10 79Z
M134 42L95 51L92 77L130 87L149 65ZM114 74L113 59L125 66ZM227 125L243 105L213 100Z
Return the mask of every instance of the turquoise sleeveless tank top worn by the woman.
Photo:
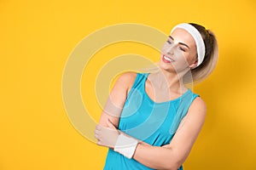
M154 102L145 91L145 82L149 73L137 72L137 77L127 99L119 119L119 130L143 140L153 146L170 144L177 127L183 116L189 110L189 106L198 94L188 90L177 99L166 102ZM144 166L139 161L120 155L108 149L104 170L148 170L153 169ZM183 166L178 170L183 170Z

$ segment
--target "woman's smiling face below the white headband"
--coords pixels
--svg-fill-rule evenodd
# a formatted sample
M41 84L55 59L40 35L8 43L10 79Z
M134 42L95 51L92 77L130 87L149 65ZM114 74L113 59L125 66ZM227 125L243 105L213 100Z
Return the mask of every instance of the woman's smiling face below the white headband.
M181 28L172 31L161 49L160 68L167 71L189 71L197 65L194 38Z

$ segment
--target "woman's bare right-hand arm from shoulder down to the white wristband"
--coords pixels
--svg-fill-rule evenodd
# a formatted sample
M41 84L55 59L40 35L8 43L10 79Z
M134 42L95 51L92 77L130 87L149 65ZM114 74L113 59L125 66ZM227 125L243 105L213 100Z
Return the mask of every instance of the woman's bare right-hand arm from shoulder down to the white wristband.
M206 113L207 107L204 101L200 97L195 98L177 128L171 144L158 147L139 143L133 158L147 167L177 170L189 156L205 121Z

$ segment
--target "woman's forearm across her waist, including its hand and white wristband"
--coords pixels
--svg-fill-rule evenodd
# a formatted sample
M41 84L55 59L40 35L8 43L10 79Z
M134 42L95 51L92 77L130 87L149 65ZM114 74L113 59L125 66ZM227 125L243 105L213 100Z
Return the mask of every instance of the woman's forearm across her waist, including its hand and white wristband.
M180 163L177 163L181 157L177 153L180 155L180 152L173 150L170 144L152 146L118 131L111 122L107 124L110 128L96 126L97 144L107 146L127 158L133 157L147 167L177 170L180 166Z

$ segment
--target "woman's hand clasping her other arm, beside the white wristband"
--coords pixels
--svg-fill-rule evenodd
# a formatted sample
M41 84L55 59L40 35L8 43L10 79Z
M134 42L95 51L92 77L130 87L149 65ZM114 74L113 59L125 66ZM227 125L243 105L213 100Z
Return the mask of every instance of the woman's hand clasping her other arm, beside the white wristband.
M108 127L102 125L96 125L95 138L98 140L97 144L106 146L113 149L119 137L119 130L113 126L112 122L108 119Z

